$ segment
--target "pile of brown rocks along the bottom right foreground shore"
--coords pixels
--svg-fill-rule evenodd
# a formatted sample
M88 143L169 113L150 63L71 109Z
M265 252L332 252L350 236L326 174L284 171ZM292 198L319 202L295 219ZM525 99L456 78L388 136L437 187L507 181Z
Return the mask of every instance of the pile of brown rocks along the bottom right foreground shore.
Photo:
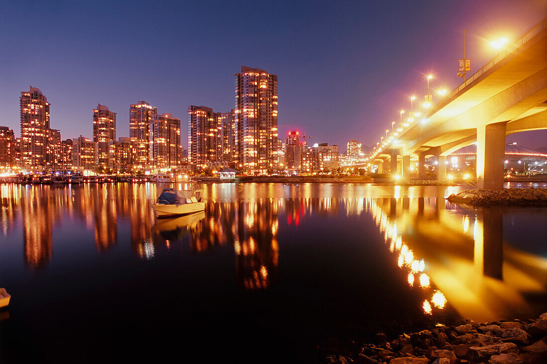
M363 345L353 356L331 355L327 362L390 364L545 363L547 362L547 313L537 320L502 320L459 326L438 323L430 330L402 334L388 341Z

